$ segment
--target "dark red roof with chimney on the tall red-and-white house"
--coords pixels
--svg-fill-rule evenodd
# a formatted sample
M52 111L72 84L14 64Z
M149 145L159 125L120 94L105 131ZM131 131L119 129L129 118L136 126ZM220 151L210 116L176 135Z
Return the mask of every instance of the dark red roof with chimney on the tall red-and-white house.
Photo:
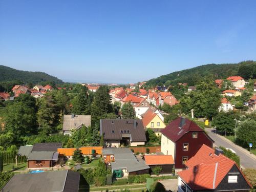
M178 141L186 132L195 131L203 132L203 130L194 122L185 118L185 124L180 128L182 117L170 122L161 133L173 142Z

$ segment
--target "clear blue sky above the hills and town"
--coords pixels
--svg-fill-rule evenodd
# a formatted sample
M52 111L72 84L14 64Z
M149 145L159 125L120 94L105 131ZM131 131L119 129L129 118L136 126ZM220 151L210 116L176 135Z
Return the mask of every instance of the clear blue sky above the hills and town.
M137 82L256 60L256 1L0 1L0 65Z

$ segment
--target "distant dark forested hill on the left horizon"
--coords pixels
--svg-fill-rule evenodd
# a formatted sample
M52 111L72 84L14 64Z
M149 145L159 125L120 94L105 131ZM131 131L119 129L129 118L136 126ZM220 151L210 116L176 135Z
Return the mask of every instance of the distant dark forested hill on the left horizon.
M63 81L57 77L43 72L20 71L0 65L0 82L14 80L19 80L24 83L38 83L42 81L55 82L56 84L63 83Z

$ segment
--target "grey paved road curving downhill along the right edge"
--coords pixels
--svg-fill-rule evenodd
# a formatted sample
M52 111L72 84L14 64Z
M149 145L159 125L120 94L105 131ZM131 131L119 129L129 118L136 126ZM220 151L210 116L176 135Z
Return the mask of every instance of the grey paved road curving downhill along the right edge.
M215 145L231 148L240 157L240 164L243 168L255 168L256 169L256 156L250 154L244 148L234 144L223 136L216 134L216 130L212 128L205 128L208 135L215 141Z

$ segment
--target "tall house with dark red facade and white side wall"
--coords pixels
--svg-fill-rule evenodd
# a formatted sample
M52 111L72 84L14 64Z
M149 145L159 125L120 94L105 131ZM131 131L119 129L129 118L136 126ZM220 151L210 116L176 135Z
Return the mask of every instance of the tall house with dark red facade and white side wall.
M174 157L175 168L185 168L203 144L212 147L214 141L194 121L179 117L161 131L161 152Z

